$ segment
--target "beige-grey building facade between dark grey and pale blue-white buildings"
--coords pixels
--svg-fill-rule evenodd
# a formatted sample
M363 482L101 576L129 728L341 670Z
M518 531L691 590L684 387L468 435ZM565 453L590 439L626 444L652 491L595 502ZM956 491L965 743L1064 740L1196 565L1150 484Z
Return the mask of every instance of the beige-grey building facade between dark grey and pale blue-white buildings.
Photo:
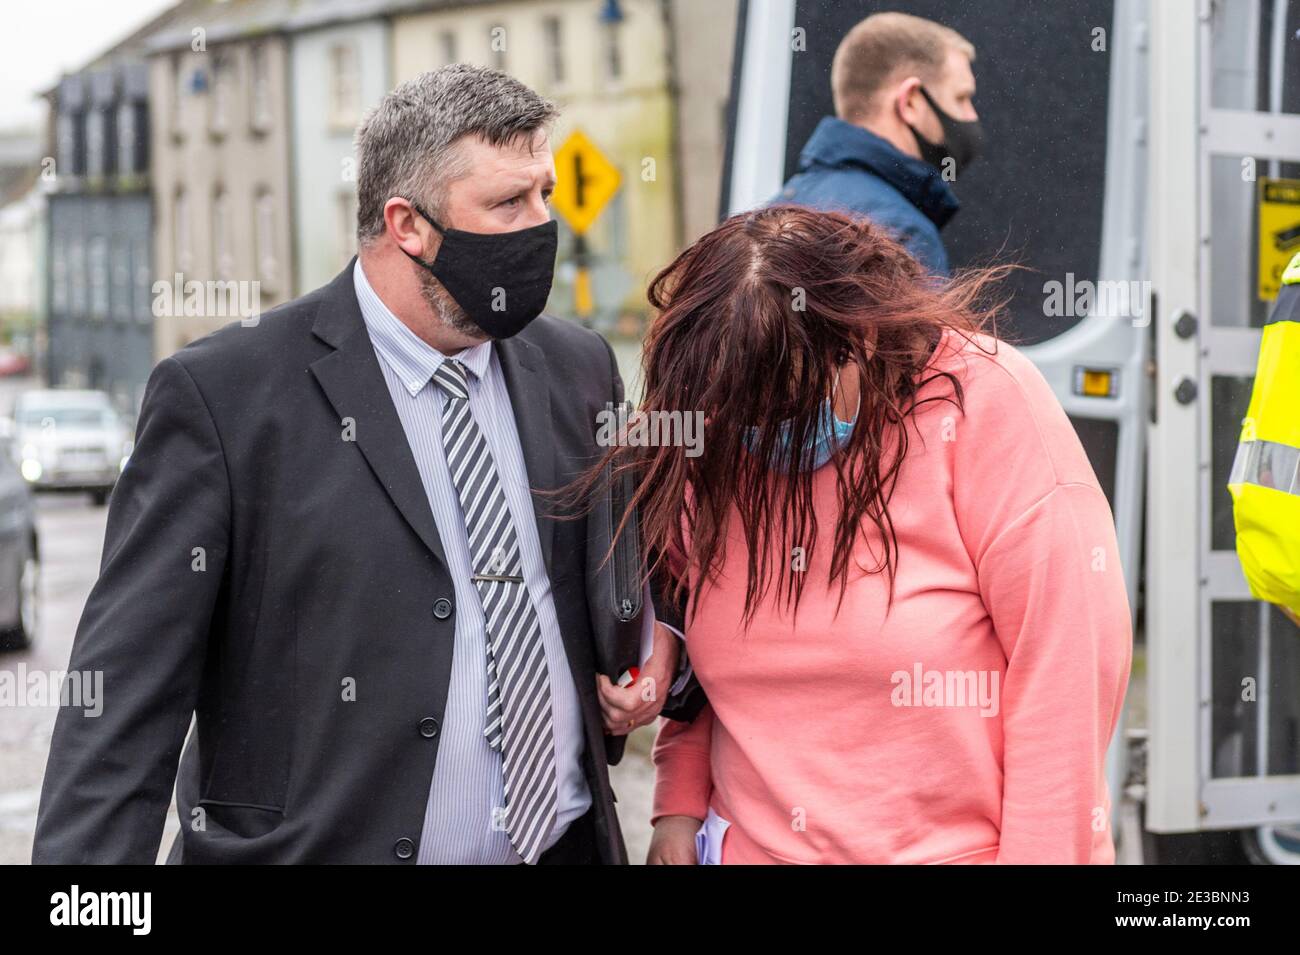
M155 351L296 294L289 40L295 4L208 3L150 43ZM164 300L164 296L166 300Z

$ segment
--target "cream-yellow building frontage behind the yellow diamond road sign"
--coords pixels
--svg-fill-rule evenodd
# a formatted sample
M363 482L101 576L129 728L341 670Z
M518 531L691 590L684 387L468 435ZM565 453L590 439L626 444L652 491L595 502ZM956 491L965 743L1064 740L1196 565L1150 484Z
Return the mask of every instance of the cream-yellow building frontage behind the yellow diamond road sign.
M472 62L559 105L552 148L581 130L621 179L586 234L594 324L638 339L649 281L716 225L734 17L734 0L439 4L394 17L394 82ZM551 309L572 314L575 236L563 220L560 235Z

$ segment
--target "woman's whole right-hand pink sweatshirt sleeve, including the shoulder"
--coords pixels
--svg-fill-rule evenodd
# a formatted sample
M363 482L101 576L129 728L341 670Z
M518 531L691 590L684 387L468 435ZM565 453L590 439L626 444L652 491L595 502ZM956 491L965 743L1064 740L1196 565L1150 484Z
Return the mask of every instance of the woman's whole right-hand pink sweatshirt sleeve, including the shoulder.
M1006 660L1002 863L1109 863L1105 758L1132 624L1115 522L1061 401L1017 348L966 350L953 500Z

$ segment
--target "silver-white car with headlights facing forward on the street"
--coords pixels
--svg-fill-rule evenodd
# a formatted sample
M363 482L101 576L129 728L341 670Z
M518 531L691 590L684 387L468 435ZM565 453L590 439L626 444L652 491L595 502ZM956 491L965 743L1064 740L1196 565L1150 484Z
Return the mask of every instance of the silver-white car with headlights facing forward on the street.
M14 403L18 472L36 491L88 491L103 507L131 437L103 391L25 391Z

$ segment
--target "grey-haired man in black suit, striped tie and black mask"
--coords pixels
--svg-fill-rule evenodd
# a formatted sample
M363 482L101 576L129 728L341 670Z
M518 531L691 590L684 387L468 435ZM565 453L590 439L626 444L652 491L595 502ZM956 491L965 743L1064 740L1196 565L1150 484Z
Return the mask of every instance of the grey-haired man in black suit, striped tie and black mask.
M623 392L538 316L552 116L491 70L402 84L358 131L359 260L157 365L34 861L152 863L173 780L169 861L627 861L607 733L666 694L598 683L586 521L536 494ZM651 616L642 678L677 656Z

